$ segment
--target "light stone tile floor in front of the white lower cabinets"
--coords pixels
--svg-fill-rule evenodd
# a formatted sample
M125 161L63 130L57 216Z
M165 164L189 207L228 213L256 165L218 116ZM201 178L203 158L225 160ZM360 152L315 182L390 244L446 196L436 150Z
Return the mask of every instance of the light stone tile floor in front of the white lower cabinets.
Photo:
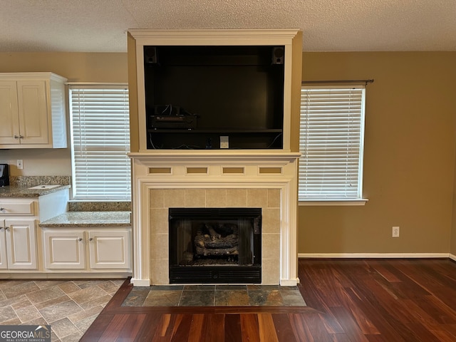
M0 280L0 324L49 324L52 341L79 341L124 281Z

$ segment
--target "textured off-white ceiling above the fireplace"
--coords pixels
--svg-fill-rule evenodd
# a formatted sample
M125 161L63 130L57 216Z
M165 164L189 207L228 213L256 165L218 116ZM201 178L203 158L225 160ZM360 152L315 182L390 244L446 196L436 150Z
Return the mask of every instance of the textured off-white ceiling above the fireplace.
M300 28L304 51L456 51L456 0L0 0L0 52L125 52L128 28Z

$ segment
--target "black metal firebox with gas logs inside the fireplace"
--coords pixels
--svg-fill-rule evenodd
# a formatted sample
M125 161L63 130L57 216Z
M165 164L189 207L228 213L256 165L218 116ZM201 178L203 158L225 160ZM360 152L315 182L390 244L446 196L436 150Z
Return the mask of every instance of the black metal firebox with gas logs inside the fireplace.
M261 208L170 208L170 284L261 284Z

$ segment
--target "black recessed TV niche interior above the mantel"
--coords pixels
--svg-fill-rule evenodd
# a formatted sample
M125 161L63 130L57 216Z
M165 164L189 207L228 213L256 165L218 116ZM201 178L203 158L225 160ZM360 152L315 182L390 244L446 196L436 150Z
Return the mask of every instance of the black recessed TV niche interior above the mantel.
M144 71L147 149L283 147L284 46L145 46Z

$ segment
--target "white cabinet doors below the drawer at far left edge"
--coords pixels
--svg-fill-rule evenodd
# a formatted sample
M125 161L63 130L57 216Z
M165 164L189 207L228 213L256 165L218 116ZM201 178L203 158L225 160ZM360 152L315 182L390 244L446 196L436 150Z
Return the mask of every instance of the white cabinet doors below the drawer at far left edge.
M36 220L0 219L0 269L36 269Z

